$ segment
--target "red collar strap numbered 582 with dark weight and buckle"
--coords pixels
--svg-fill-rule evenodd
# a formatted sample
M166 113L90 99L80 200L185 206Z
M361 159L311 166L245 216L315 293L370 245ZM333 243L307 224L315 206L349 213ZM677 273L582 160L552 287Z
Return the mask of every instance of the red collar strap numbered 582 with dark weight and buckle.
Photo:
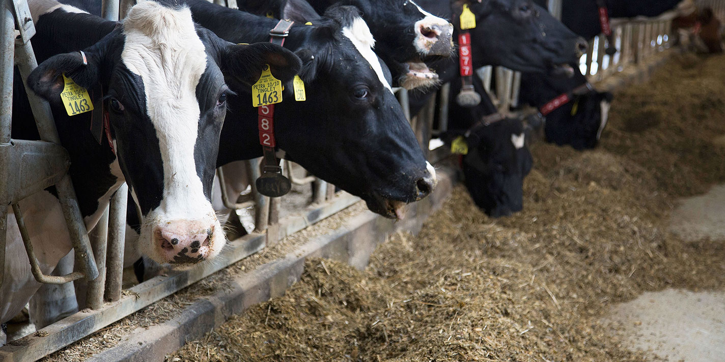
M294 24L290 20L279 20L270 30L270 43L284 46L289 29ZM276 141L274 136L274 104L257 107L257 128L260 131L263 164L262 176L257 179L257 190L262 195L280 197L289 192L291 182L282 175L282 167L275 154ZM263 127L265 126L265 127ZM267 135L267 137L264 137Z

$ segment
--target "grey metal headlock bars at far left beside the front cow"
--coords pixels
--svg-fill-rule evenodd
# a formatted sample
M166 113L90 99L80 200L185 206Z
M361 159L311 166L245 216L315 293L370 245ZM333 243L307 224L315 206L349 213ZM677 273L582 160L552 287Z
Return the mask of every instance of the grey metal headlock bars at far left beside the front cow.
M47 284L62 284L80 277L95 279L98 276L98 269L94 262L94 254L91 251L91 244L88 240L86 226L78 209L78 201L75 198L75 191L72 188L70 176L67 174L68 157L65 149L59 146L60 139L55 129L55 123L51 114L49 104L35 95L25 84L30 71L38 66L33 48L30 45L30 37L35 34L35 25L30 17L28 3L26 0L4 0L2 1L2 29L0 30L0 41L2 41L2 80L1 80L1 135L0 135L0 205L12 206L15 219L17 220L20 234L28 252L28 259L33 268L33 276L38 282ZM17 36L14 30L15 24L20 25ZM36 125L41 136L41 141L11 140L10 131L12 123L12 84L13 66L17 64L20 76L22 77L25 89L28 90L28 99L33 116L36 118ZM17 170L11 172L11 170ZM28 230L22 219L22 211L18 204L23 198L36 193L50 185L55 185L63 216L70 232L71 242L75 250L75 256L80 263L80 273L70 273L61 277L51 277L39 272L37 257L33 253L32 244L28 237ZM7 232L7 207L0 212L2 222L0 223L0 240L2 243L2 267L4 271L4 247L7 243L5 235ZM0 274L4 277L4 275ZM2 283L0 278L0 285Z

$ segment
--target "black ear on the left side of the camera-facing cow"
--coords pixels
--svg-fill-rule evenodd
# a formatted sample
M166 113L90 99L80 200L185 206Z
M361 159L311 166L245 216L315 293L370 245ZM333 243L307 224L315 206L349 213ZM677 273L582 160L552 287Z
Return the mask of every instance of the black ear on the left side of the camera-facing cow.
M63 91L63 75L83 88L99 81L99 56L94 51L57 54L42 62L28 75L28 87L46 101L57 103Z

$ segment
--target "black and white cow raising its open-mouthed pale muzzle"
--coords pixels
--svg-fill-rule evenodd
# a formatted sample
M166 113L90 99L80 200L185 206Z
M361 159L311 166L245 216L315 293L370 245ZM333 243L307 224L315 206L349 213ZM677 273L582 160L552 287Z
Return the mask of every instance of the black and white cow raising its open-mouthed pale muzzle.
M333 4L355 6L376 39L376 54L393 77L393 86L427 88L438 83L438 75L424 62L434 56L452 55L453 25L423 9L413 0L239 0L239 9L253 14L282 14L306 18L324 12Z

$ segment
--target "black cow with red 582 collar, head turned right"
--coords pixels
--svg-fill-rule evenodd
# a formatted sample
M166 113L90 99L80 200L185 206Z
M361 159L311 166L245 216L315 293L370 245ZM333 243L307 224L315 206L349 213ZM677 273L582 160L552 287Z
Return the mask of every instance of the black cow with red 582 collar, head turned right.
M194 19L234 43L268 41L277 20L189 0ZM289 7L288 7L289 8ZM310 14L292 25L284 46L302 59L299 75L307 100L296 102L288 85L275 106L277 148L315 176L358 195L386 217L402 214L436 179L392 93L390 74L355 7L336 5L324 17ZM304 25L310 21L312 25ZM249 94L229 98L218 165L262 156L257 109ZM252 132L252 133L248 133Z

